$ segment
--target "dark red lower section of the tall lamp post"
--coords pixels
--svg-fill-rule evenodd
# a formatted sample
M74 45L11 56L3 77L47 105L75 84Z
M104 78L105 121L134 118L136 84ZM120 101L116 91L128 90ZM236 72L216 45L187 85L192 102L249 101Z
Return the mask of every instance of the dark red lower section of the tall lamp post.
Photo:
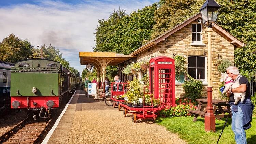
M204 116L204 130L215 132L215 115L213 113L212 105L212 87L207 87L207 112Z

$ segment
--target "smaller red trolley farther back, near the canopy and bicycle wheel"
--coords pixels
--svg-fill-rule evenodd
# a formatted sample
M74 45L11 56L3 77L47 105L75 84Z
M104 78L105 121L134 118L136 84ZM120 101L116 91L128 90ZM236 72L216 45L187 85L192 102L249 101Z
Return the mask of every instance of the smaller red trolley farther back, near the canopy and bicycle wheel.
M117 96L122 96L126 93L126 87L128 83L123 83L123 82L112 82L111 83L111 97L110 99L113 101L113 107L117 105L117 103L122 103L125 102L124 98L118 98ZM121 109L120 105L118 104L118 110Z

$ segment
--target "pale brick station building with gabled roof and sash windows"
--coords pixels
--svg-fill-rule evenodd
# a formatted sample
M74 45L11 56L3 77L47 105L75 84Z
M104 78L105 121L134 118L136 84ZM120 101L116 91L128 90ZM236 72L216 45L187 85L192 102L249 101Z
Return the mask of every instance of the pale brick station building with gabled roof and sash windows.
M207 28L200 22L201 14L198 13L183 23L163 33L139 47L130 55L137 57L135 61L150 60L152 57L168 56L173 58L181 55L186 58L186 66L190 76L200 79L207 87L207 51L208 35ZM219 58L229 59L234 63L234 49L245 44L232 36L229 32L215 24L212 32L212 86L213 98L219 97L220 74L217 71L216 60ZM121 74L123 67L134 60L119 64L119 75L122 80L131 79ZM141 78L141 76L139 76ZM175 84L176 97L184 96L182 82ZM205 88L203 97L207 97Z

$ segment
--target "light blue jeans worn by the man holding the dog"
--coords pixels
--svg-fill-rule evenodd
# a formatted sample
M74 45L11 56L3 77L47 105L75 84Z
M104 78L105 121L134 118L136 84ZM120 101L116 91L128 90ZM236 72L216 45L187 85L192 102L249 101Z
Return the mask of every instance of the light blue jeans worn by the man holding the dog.
M235 140L237 144L247 144L246 134L243 128L243 111L238 106L238 112L234 112L232 109L232 130L235 134Z

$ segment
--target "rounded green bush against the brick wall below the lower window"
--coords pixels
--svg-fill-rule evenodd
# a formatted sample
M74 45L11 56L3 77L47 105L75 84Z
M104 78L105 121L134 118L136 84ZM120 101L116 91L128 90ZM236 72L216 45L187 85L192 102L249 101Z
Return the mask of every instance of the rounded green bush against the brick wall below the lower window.
M186 80L182 85L183 90L185 92L185 98L189 98L191 100L196 100L202 96L203 91L203 82L200 80L195 80L191 78L190 80Z

